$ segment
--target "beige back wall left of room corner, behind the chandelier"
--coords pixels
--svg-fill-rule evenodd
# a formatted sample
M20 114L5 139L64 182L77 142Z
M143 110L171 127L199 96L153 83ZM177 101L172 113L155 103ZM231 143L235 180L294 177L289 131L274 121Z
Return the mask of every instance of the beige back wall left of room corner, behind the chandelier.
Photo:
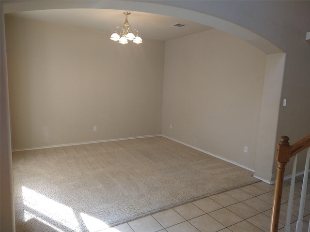
M164 42L109 36L6 17L13 149L160 134Z

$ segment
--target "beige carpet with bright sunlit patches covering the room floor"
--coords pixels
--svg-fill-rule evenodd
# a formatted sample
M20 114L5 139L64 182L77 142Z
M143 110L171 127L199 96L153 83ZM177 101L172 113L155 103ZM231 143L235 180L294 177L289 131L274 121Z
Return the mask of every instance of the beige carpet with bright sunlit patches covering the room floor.
M17 232L99 232L258 180L164 137L13 153Z

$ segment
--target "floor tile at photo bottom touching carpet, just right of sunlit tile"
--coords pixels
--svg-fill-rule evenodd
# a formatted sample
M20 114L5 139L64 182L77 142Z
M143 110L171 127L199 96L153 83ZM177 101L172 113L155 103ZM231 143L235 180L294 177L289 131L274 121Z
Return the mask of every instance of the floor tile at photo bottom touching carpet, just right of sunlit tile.
M128 224L134 232L156 232L164 229L151 215L130 221Z

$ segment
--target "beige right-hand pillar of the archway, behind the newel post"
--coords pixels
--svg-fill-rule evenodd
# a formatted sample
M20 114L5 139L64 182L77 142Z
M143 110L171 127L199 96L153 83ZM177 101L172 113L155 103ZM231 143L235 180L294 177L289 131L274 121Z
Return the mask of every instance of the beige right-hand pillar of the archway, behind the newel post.
M277 140L277 125L281 105L281 88L285 54L267 55L263 84L263 99L255 157L255 175L264 180L272 180Z

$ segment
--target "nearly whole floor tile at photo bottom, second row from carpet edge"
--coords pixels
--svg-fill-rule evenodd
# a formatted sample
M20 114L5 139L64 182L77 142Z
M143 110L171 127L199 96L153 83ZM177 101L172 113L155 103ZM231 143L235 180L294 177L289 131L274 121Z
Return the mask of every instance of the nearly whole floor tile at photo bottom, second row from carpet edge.
M200 232L217 232L225 228L224 225L209 215L193 218L189 220L189 223L195 226Z

